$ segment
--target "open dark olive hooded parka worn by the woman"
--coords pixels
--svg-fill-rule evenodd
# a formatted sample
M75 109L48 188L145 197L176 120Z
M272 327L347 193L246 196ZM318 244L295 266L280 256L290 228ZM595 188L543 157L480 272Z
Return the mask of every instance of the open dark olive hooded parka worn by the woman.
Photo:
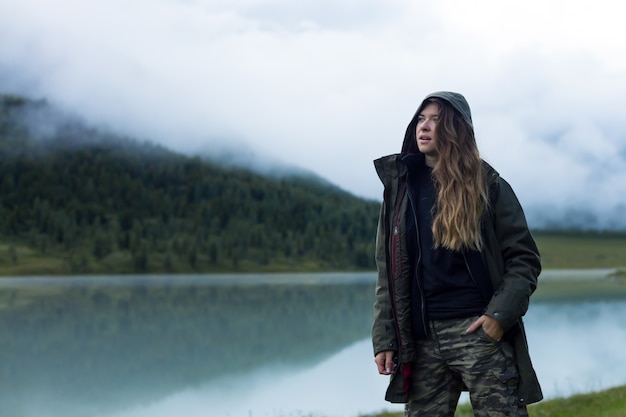
M378 278L372 342L374 355L388 350L396 352L398 366L385 396L387 401L394 403L409 401L410 363L416 359L415 336L411 325L411 286L415 279L411 262L414 258L407 253L405 227L409 204L406 187L408 171L402 158L410 153L419 153L415 141L417 119L427 100L432 98L447 101L472 125L469 105L461 94L449 91L432 93L422 102L409 123L402 152L374 161L384 194L376 236ZM505 331L502 343L513 346L520 377L518 400L520 405L526 405L543 398L530 360L522 322L530 296L537 287L541 261L512 188L486 162L483 162L483 170L489 207L485 210L481 224L484 244L481 257L492 286L489 291L493 294L484 314L500 322Z

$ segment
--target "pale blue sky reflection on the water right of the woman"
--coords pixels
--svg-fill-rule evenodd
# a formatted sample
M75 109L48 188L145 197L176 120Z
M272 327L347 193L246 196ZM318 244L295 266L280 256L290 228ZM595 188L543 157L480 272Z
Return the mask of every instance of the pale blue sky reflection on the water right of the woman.
M537 303L526 317L547 398L626 384L626 300Z

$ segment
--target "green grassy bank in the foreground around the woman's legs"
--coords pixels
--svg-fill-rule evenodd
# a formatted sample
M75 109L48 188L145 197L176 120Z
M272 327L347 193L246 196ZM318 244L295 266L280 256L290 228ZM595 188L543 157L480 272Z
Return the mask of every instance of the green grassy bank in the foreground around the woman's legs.
M626 417L626 385L590 394L546 400L528 407L530 417ZM385 412L361 417L401 417ZM461 404L455 417L473 417L469 404Z

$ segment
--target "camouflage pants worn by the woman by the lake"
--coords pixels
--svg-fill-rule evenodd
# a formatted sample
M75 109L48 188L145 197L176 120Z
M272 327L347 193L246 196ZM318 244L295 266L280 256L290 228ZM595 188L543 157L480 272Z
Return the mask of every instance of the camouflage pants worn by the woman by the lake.
M478 317L430 322L411 369L406 417L453 417L461 391L469 389L475 417L527 417L517 399L513 348L481 329L466 333Z

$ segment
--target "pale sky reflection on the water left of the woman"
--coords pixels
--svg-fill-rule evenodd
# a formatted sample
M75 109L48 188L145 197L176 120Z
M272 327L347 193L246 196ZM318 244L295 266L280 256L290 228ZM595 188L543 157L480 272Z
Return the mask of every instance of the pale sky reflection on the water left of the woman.
M368 338L308 369L272 367L225 378L107 417L356 417L401 410L384 401L387 378L372 359Z

